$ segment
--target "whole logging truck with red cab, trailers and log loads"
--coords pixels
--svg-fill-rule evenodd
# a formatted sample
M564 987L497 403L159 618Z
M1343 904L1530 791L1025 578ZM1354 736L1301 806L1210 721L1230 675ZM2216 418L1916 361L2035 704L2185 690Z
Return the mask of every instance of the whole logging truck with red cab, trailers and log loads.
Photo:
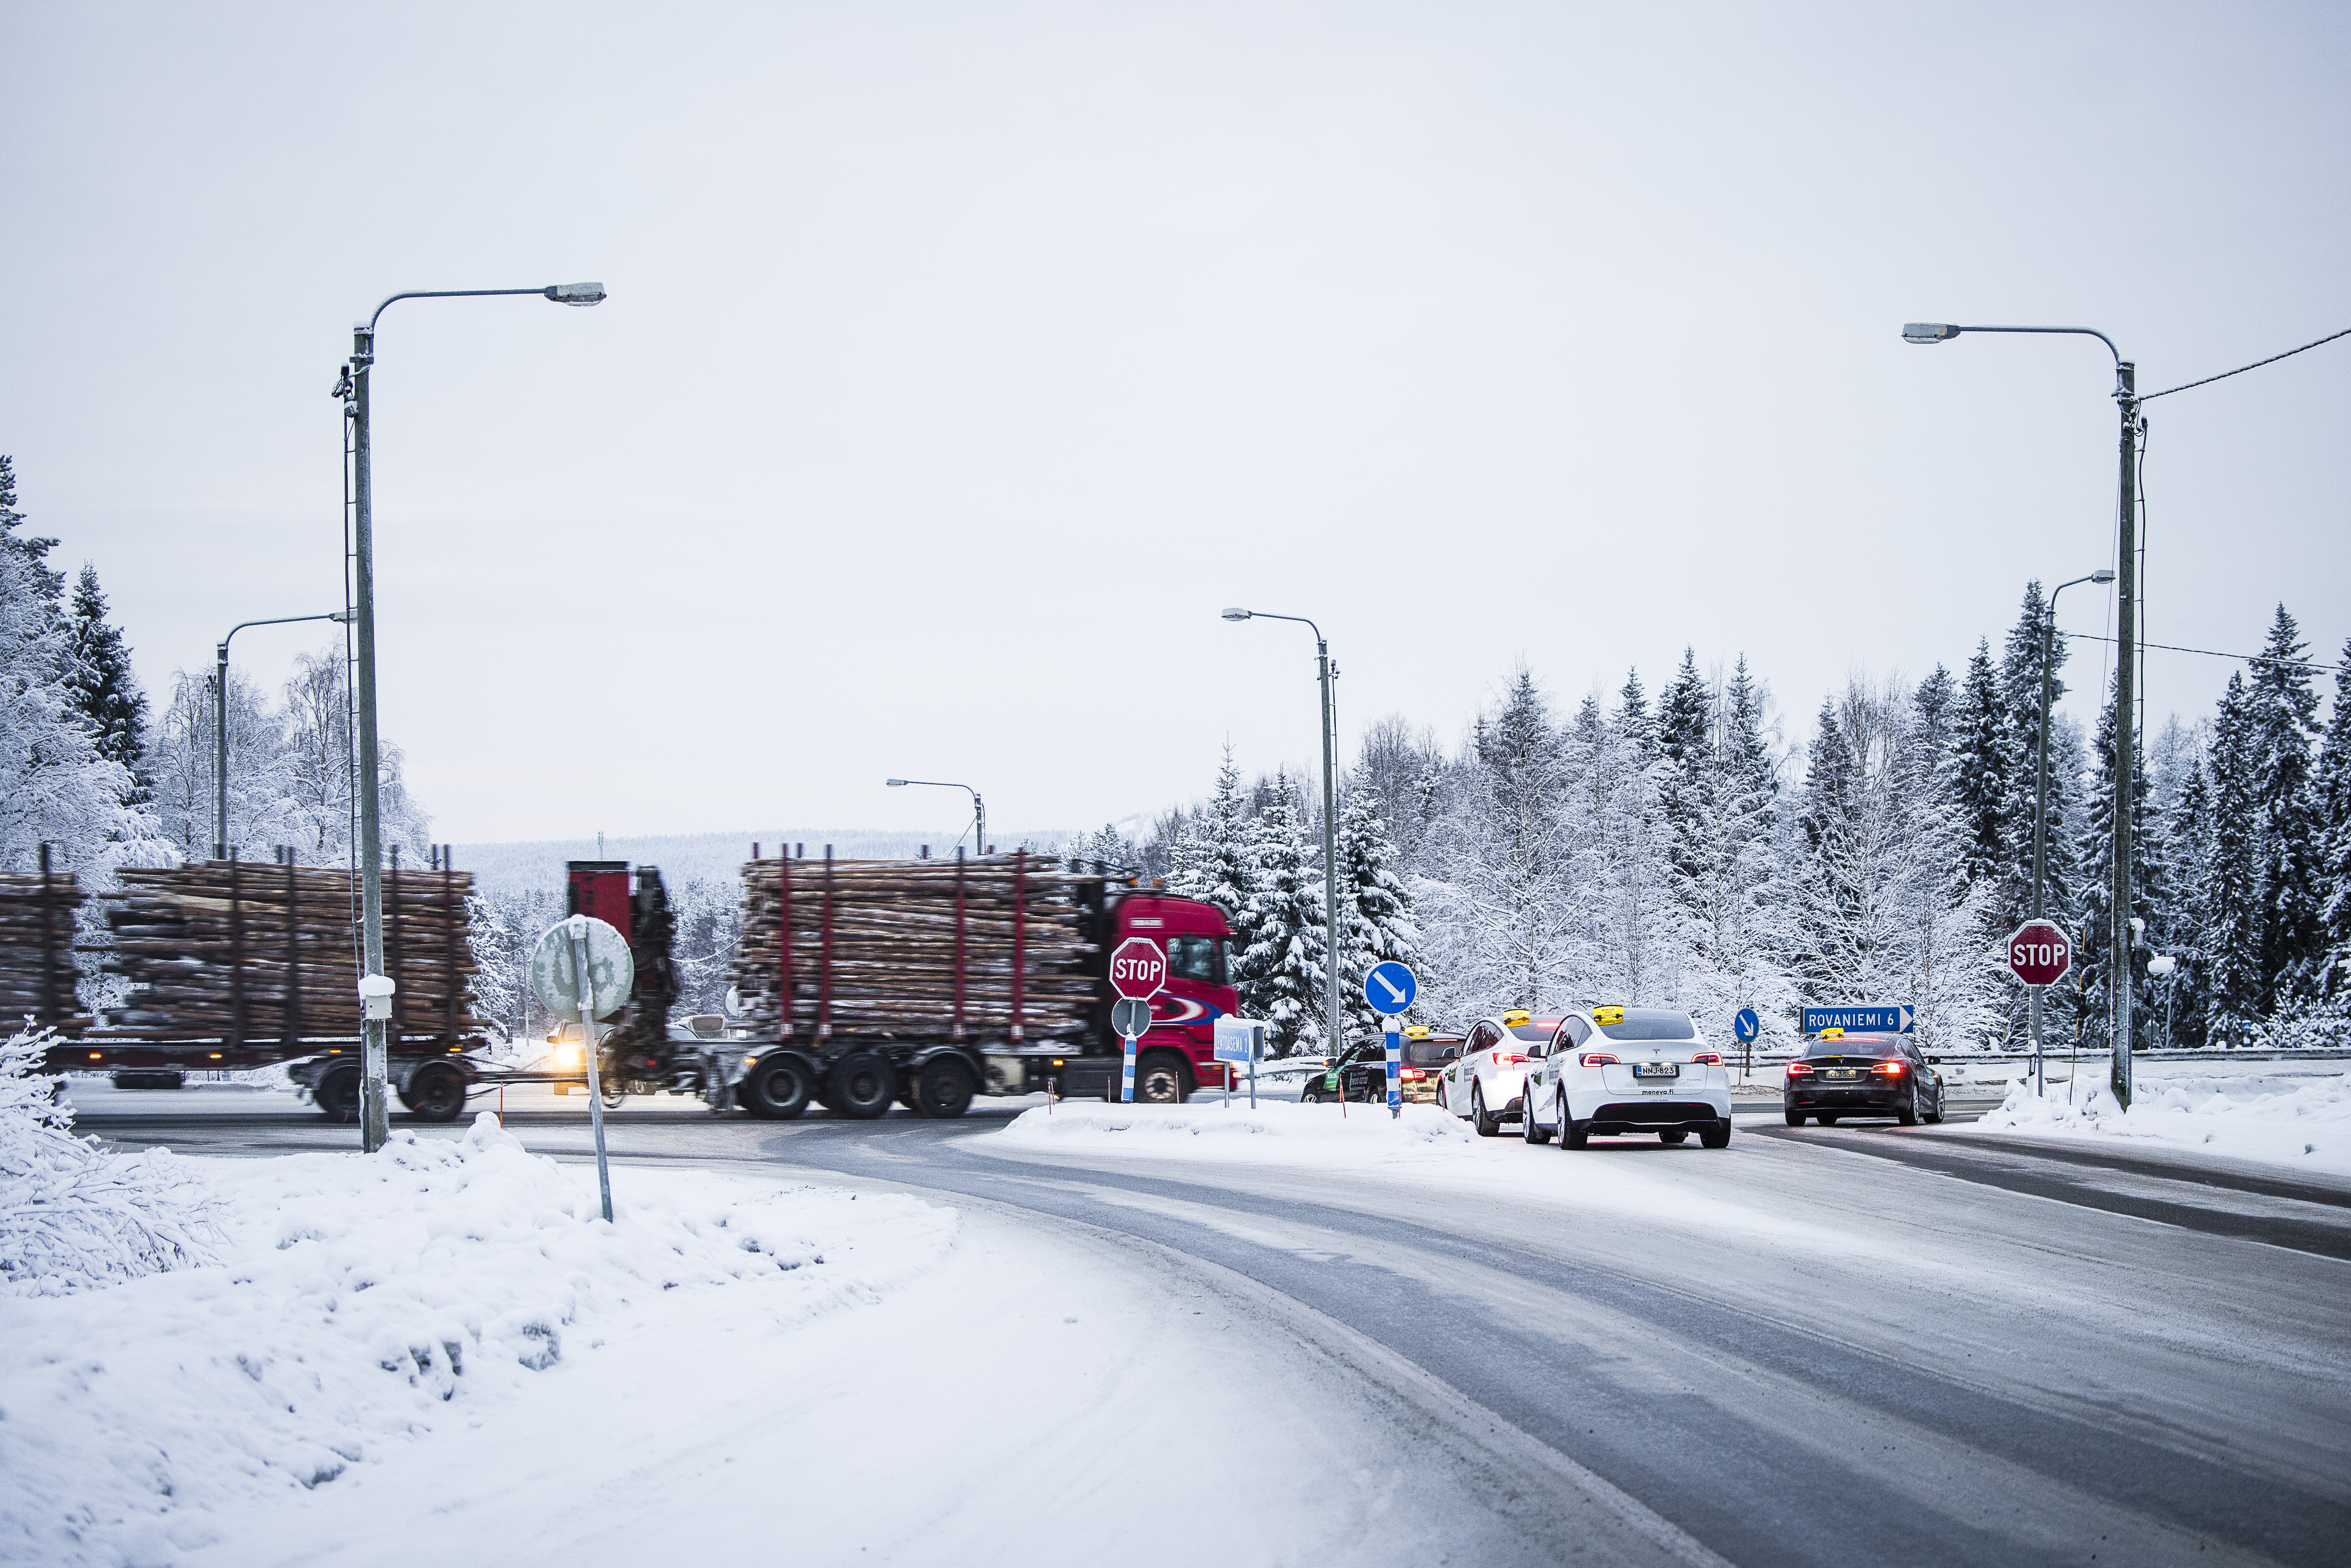
M61 1041L54 1072L174 1079L186 1070L287 1065L329 1119L360 1105L357 969L350 877L200 860L125 870L106 893L108 973L129 1004L108 1016L73 1004L71 875L0 886L0 992L24 994ZM496 1084L585 1086L571 1060L517 1070L491 1060L491 1030L470 1013L468 893L447 851L430 870L383 877L386 969L397 978L388 1079L421 1121L449 1121ZM607 1095L691 1093L715 1112L797 1117L811 1103L839 1117L882 1117L891 1103L959 1117L973 1095L1117 1093L1124 1041L1110 1027L1110 950L1128 936L1164 943L1168 985L1138 1041L1136 1098L1180 1103L1225 1081L1213 1025L1237 1011L1232 931L1204 903L1136 879L1030 853L955 860L773 856L743 867L738 1006L672 1023L675 919L661 870L574 860L569 910L630 940L637 978L600 1030Z

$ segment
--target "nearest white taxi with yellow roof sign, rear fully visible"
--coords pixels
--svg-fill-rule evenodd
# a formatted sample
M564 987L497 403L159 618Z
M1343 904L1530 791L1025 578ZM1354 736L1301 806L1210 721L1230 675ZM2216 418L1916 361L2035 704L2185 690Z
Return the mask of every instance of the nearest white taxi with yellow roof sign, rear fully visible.
M1655 1133L1681 1143L1697 1133L1730 1147L1730 1074L1688 1013L1655 1006L1594 1006L1559 1020L1526 1070L1528 1143L1559 1138L1585 1147L1594 1133Z

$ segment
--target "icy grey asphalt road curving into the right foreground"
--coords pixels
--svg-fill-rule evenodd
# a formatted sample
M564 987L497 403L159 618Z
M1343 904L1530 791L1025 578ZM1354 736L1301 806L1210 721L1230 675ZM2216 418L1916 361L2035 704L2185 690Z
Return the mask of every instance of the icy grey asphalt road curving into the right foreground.
M350 1147L181 1098L108 1095L82 1124L200 1154ZM1009 1150L999 1124L632 1105L611 1147L940 1194L1194 1279L1295 1342L1300 1378L1387 1413L1406 1474L1469 1521L1458 1561L2351 1556L2339 1185L1968 1128L1312 1166ZM588 1147L552 1103L508 1126Z

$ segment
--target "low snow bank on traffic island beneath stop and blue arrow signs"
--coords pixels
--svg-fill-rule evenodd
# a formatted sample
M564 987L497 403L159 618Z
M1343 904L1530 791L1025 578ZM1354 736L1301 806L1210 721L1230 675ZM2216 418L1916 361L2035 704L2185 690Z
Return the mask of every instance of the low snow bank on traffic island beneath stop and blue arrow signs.
M1192 1154L1211 1159L1319 1159L1328 1154L1413 1154L1476 1145L1469 1124L1434 1105L1300 1105L1258 1098L1258 1107L1197 1098L1190 1105L1100 1105L1063 1100L1020 1112L999 1140L1065 1150Z

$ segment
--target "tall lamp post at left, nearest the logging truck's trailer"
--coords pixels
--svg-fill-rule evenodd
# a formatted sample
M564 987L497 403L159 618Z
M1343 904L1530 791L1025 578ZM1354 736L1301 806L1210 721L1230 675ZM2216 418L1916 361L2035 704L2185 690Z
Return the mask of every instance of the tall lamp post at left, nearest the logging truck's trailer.
M343 400L343 418L350 421L350 552L353 552L353 614L357 616L355 656L357 708L360 708L360 957L367 973L360 976L360 992L371 997L362 1020L364 1051L360 1072L360 1147L376 1152L390 1138L390 1107L386 1105L386 1067L390 1058L390 978L383 973L383 872L381 820L379 820L379 748L376 748L376 501L367 430L367 381L376 367L376 322L402 299L484 299L494 294L538 294L557 306L595 306L604 299L600 282L557 282L543 289L409 289L393 294L364 322L350 329L350 362L334 395ZM371 992L374 987L381 987Z

